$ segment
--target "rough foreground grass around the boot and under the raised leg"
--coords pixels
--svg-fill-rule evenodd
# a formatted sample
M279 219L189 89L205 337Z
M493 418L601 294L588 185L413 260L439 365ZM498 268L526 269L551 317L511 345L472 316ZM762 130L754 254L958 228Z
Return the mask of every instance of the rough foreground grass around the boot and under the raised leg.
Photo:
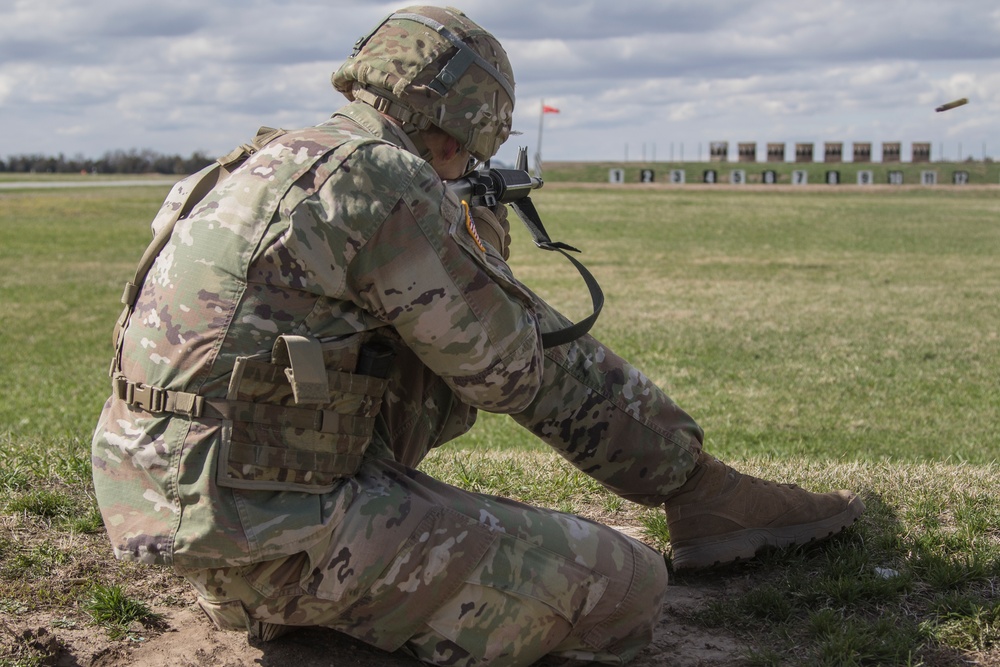
M568 503L610 525L638 527L654 547L669 543L660 510L609 507L608 492L545 453L471 454L446 447L423 467L458 485L473 475L476 490L487 493ZM675 585L717 591L700 611L674 609L675 622L737 636L751 665L994 664L976 656L1000 654L1000 466L798 458L736 466L821 491L853 488L866 514L821 547L675 574ZM551 494L549 479L557 480Z

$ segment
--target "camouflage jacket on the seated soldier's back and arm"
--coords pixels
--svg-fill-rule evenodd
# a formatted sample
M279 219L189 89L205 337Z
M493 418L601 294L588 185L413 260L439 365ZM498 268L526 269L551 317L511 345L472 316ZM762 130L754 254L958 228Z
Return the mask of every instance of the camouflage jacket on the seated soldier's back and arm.
M360 457L387 451L373 422L406 381L359 383L372 340L405 349L472 408L533 399L543 357L530 294L404 143L348 105L266 144L176 223L124 329L120 379L215 408L146 410L132 388L106 403L94 485L117 557L245 564L331 530ZM325 379L289 367L303 341ZM328 396L309 396L317 383Z

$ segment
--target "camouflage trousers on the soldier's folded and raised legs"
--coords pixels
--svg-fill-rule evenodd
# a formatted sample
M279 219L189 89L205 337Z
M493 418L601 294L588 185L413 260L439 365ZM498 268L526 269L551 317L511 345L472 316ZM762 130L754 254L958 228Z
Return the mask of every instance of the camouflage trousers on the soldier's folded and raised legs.
M558 316L545 312L551 327ZM698 426L591 337L546 354L542 391L514 419L623 497L662 503L694 466ZM475 411L405 352L393 374L379 455L339 490L346 510L328 539L276 561L184 573L206 613L251 632L261 622L329 627L437 665L634 657L660 616L663 556L606 526L415 470Z

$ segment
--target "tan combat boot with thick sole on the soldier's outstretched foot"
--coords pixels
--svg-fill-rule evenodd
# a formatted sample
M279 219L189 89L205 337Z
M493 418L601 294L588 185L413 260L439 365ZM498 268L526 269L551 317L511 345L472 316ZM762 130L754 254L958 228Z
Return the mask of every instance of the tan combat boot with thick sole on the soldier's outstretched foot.
M665 503L675 570L753 558L764 547L823 540L865 509L850 491L810 493L736 472L704 452Z

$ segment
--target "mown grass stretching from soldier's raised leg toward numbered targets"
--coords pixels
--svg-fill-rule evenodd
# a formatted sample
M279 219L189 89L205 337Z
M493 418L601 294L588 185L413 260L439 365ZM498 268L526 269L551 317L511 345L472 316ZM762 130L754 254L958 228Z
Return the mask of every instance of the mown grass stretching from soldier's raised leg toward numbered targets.
M542 193L551 235L604 287L595 333L714 451L997 458L1000 192ZM524 236L515 271L586 314L572 267Z

